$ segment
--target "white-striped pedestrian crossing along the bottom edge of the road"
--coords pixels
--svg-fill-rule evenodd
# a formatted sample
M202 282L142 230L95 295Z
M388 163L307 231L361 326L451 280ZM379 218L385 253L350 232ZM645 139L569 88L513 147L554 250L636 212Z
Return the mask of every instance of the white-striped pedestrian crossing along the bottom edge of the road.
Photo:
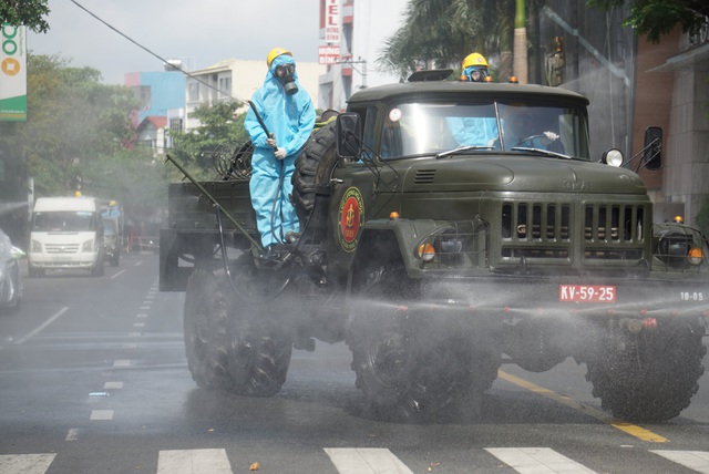
M325 447L323 451L332 464L333 474L414 473L386 447ZM485 447L483 451L520 474L596 473L549 447ZM709 451L649 450L648 455L660 456L693 472L709 474ZM0 455L0 473L45 474L56 456L61 454ZM649 462L654 463L653 460ZM436 471L439 466L435 467L429 467L429 472ZM475 471L475 466L467 466L467 468L469 472ZM253 465L250 470L257 471L258 466ZM232 466L224 449L166 450L160 451L157 455L157 474L233 474L235 472L244 472L244 467Z

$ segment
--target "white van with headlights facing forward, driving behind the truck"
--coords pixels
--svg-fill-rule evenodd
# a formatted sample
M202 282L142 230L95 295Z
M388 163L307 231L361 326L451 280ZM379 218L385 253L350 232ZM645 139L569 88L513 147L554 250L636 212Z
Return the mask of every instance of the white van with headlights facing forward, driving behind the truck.
M92 197L40 197L30 228L28 272L43 276L52 268L83 268L103 275L101 206Z

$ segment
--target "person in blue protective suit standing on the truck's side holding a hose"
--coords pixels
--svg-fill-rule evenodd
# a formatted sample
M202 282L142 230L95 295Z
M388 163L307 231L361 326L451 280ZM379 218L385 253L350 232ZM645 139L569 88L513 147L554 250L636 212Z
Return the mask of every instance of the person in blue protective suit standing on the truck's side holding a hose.
M298 233L296 209L290 203L296 157L315 126L315 106L298 82L292 53L273 49L266 59L264 85L253 97L244 127L254 144L249 190L256 224L266 255L288 233ZM268 134L254 109L260 115Z

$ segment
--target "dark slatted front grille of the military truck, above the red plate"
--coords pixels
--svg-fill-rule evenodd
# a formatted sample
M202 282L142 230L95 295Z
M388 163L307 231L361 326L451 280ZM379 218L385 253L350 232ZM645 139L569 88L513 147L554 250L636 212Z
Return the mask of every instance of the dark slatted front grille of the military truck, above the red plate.
M645 215L644 205L504 203L502 257L568 259L580 241L579 255L587 260L638 260Z

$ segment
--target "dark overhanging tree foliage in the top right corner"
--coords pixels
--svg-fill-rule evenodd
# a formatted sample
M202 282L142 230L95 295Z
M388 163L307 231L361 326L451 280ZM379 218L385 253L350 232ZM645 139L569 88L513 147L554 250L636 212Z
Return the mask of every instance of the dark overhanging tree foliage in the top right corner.
M627 4L630 14L623 24L647 35L654 43L677 24L681 25L684 33L697 34L709 17L707 0L587 0L586 4L604 10Z

